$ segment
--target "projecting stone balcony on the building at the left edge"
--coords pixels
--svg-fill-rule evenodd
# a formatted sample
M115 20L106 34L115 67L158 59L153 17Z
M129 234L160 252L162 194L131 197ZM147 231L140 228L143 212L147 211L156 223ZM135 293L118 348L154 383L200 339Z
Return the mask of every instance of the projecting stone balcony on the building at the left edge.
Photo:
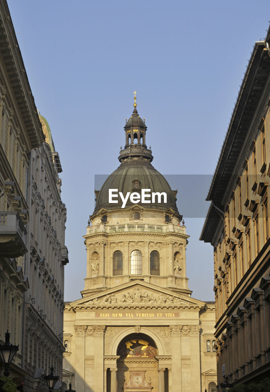
M0 256L23 256L27 252L26 234L18 212L0 212Z

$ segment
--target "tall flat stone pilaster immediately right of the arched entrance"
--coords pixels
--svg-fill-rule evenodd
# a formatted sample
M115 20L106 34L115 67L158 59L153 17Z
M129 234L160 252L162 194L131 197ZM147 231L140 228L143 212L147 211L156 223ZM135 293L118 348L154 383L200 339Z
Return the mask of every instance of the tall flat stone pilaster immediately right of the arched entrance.
M181 330L183 325L170 325L172 355L172 392L182 392Z

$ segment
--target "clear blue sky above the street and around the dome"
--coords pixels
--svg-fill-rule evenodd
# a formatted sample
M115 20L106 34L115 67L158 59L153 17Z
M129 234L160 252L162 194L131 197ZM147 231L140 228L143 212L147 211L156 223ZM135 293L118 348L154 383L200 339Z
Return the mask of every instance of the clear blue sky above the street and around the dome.
M269 1L8 4L36 106L49 122L63 167L70 260L65 301L81 298L84 289L82 236L94 210L94 175L119 165L134 90L153 166L163 174L200 178L195 190L188 181L178 185L178 209L191 236L186 256L192 296L213 300L213 250L198 240L208 208L203 200L252 46L268 29ZM202 205L192 218L191 192Z

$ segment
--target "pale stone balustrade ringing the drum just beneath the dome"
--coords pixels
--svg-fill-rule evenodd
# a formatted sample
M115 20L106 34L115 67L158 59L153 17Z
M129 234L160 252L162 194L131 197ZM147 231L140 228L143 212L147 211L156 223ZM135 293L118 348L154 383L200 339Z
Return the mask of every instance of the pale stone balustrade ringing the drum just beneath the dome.
M104 225L100 223L98 225L88 226L87 234L96 233L123 233L123 232L153 232L153 233L168 233L174 232L179 234L186 234L185 226L173 225L169 223L167 225L150 225L149 223L124 223L117 225Z

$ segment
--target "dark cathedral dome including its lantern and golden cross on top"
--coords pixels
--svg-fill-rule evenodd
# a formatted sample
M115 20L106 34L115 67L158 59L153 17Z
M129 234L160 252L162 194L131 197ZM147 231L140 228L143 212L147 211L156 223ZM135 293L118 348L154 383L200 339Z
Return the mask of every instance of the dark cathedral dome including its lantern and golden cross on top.
M120 209L123 211L123 209L129 209L138 204L148 210L155 209L165 212L171 209L171 213L176 214L178 220L181 220L182 217L176 207L176 191L171 190L166 179L151 165L153 160L152 151L151 147L150 149L147 148L145 141L147 127L137 112L136 96L134 101L132 116L124 126L126 144L124 149L121 147L118 157L121 165L108 176L101 190L95 191L96 206L94 214L98 214L101 209L108 211ZM113 190L112 192L115 195L111 200L109 199L110 189ZM143 189L146 190L144 192L148 195L145 200L142 200ZM119 192L122 192L122 197L126 198L127 196L124 207L122 207L123 201ZM130 200L128 192L130 194L137 192L139 201ZM153 193L157 193L157 195L153 196Z

